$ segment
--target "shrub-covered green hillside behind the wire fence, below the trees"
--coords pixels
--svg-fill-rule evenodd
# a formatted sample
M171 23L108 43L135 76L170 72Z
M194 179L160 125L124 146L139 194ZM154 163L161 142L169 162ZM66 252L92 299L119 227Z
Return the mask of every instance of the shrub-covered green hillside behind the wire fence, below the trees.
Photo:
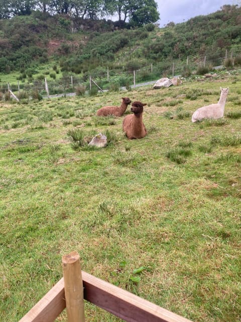
M226 5L207 16L165 28L148 24L116 30L111 21L34 12L0 21L0 72L26 71L49 61L76 74L100 66L140 68L187 56L240 52L241 8Z

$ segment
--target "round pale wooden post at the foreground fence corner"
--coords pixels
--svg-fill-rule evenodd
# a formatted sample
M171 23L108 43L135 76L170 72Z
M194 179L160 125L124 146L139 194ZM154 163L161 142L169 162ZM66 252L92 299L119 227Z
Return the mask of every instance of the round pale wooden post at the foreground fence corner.
M62 268L68 322L84 322L84 292L78 253L64 255Z

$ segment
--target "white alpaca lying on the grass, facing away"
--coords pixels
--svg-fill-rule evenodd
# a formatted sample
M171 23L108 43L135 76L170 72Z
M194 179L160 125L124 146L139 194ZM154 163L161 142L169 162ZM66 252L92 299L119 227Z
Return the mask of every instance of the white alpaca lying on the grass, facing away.
M218 103L200 107L192 115L192 122L201 121L202 119L219 119L223 117L224 107L228 94L228 88L222 89Z

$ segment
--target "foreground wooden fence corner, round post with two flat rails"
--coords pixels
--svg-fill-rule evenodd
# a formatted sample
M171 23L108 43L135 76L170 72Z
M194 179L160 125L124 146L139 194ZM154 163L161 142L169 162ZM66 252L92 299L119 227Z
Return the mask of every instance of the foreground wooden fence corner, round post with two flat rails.
M53 322L65 308L68 322L84 322L83 299L128 322L191 322L81 271L76 252L63 256L62 266L63 278L19 322Z

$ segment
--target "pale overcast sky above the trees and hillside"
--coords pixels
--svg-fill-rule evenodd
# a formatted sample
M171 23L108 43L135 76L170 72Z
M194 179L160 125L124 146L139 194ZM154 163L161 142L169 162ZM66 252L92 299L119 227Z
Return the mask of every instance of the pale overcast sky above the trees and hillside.
M237 5L238 0L156 0L160 13L160 27L173 21L175 24L190 18L208 15L223 5Z

